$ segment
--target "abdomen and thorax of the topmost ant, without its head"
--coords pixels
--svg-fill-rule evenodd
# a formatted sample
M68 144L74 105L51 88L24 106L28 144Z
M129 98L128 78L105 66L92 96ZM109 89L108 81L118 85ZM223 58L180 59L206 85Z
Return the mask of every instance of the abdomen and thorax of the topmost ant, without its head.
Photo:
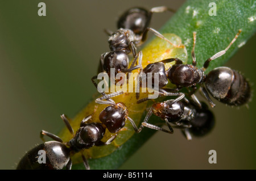
M168 41L161 33L149 28L150 20L154 12L164 12L174 10L166 7L153 7L151 10L146 10L140 7L134 7L127 10L118 20L118 30L111 32L106 30L109 35L109 47L112 51L122 50L126 54L133 53L133 57L136 56L137 46L144 43L147 38L147 32L151 31L154 35Z

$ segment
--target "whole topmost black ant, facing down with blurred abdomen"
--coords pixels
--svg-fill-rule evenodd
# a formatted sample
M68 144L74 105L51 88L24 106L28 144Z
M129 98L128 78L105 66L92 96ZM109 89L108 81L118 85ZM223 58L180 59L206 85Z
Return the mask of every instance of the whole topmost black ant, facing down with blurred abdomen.
M119 72L127 73L135 69L142 69L142 52L140 51L137 54L137 46L144 43L148 31L153 32L154 35L172 44L161 33L153 28L148 28L152 13L167 10L173 11L165 6L154 7L150 11L138 7L127 10L118 20L117 31L111 32L106 30L106 33L109 35L108 42L111 51L101 55L99 72L104 70L110 75L110 68L114 68L116 75ZM134 60L128 69L128 54L130 53L133 53ZM139 60L138 65L134 66L137 60Z

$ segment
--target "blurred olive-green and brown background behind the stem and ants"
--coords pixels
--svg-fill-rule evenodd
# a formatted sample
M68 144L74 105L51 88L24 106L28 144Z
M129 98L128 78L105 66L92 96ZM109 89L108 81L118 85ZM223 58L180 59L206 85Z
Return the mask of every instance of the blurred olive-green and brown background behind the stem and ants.
M59 132L60 115L73 117L92 99L90 78L109 50L103 30L115 30L118 15L134 6L179 9L184 1L43 1L42 17L39 2L0 1L0 169L15 169L25 151L42 143L42 129ZM171 15L155 14L151 27L158 30ZM227 64L251 83L255 41L253 36ZM249 106L217 104L216 125L204 138L158 132L121 169L255 169L255 99ZM208 163L212 149L217 164Z

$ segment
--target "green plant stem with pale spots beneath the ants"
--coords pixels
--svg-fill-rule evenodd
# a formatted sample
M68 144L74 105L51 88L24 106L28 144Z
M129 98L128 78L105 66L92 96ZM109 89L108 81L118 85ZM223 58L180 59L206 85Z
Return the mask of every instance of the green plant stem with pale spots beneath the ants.
M210 2L216 3L216 16L209 15L209 10L212 8L209 7ZM210 71L217 66L225 64L225 62L253 35L256 31L255 12L255 1L187 1L164 25L160 32L174 33L181 38L189 54L188 63L191 64L192 58L190 52L193 44L193 32L195 31L197 33L195 54L197 66L201 68L207 58L225 49L238 30L241 29L242 32L240 36L232 47L230 47L228 52L210 63L207 69L207 71ZM147 45L147 47L148 46L150 46L150 44ZM143 118L145 113L146 108L138 113L138 117ZM79 123L81 117L80 119L73 120L73 122L74 121ZM152 124L158 123L159 119L151 119L150 122ZM115 149L113 153L105 157L89 159L91 169L118 169L118 167L129 159L129 157L154 133L155 131L144 129L139 134L133 134L124 144L119 145L119 148ZM64 132L60 135L64 136ZM84 169L84 165L77 163L74 164L72 168Z

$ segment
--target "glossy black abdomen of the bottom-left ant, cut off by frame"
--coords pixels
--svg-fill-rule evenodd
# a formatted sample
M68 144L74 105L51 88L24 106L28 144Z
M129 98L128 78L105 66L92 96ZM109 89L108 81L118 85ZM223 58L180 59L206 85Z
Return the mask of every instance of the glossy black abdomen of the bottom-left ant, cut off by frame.
M39 150L46 151L46 163L39 163ZM69 149L58 141L47 141L24 155L16 169L20 170L61 170L70 160Z

